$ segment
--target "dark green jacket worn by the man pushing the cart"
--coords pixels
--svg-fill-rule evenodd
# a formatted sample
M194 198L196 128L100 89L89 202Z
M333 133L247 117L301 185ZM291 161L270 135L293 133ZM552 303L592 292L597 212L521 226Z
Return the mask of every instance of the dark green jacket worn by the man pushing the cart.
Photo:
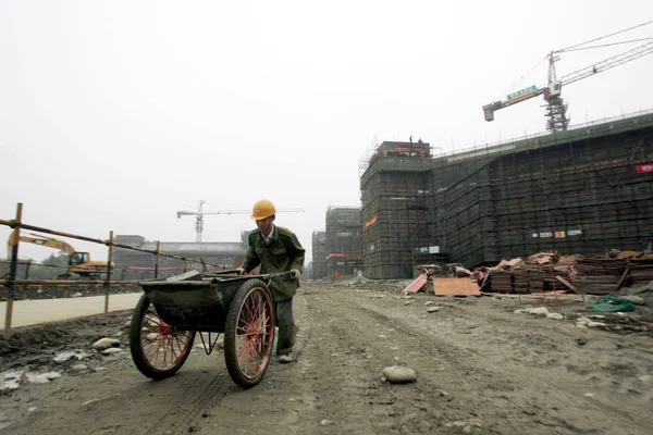
M260 265L260 273L288 272L293 269L304 272L305 249L297 236L281 226L274 225L270 244L266 244L261 232L257 228L249 233L247 254L241 268L251 272ZM299 279L282 276L272 279L270 291L275 301L291 299L299 288Z

